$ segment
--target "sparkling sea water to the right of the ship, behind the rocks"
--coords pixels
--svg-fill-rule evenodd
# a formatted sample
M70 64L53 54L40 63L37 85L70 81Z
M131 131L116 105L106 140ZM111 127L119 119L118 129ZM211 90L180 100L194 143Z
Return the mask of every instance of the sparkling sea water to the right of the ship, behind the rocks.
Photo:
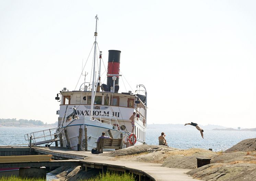
M213 151L225 151L238 142L255 138L256 131L215 131L204 130L203 138L197 129L147 129L146 142L158 145L158 137L165 133L168 146L180 149L212 148Z

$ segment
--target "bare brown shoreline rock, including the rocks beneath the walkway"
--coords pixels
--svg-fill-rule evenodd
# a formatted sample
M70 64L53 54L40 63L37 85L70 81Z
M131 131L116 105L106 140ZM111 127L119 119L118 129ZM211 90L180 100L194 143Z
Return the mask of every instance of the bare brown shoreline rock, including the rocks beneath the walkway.
M101 156L118 161L141 161L162 164L162 167L192 169L187 172L195 179L205 181L256 180L256 138L243 140L225 152L212 152L200 148L177 149L159 145L139 145L106 152ZM208 165L197 168L197 157L210 158ZM60 167L55 181L90 178L97 171L82 171L79 167Z

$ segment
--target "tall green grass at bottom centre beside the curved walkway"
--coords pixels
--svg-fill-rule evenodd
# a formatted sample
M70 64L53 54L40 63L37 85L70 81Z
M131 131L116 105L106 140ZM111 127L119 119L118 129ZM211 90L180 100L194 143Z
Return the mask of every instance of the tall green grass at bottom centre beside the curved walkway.
M97 177L86 179L86 180L80 180L80 181L135 181L135 178L132 176L132 174L118 174L116 172L107 172L104 174L100 174Z

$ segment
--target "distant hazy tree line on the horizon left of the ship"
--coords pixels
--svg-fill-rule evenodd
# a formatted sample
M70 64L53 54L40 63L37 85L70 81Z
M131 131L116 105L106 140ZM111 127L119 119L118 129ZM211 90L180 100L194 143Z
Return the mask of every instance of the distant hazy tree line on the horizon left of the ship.
M14 126L15 125L26 125L26 124L33 124L35 126L57 126L57 121L53 124L47 124L44 123L43 121L39 121L39 120L27 120L27 119L19 119L16 120L16 118L14 119L0 119L0 125L4 125L5 123L12 123Z

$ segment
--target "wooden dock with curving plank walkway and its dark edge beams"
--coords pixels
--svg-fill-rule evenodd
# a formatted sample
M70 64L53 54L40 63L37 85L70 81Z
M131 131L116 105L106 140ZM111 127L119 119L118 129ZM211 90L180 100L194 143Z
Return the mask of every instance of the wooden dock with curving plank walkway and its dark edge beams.
M0 148L1 151L1 148ZM64 165L80 165L83 170L88 168L98 168L104 170L126 171L136 174L138 180L149 178L153 181L192 181L196 180L189 177L186 172L189 169L176 169L161 167L162 164L155 164L149 162L134 162L134 161L114 161L113 157L100 156L85 151L74 151L61 147L34 147L33 153L53 155L53 158L69 159L69 160L55 160L49 162L27 162L27 163L9 163L9 166L15 167L36 167L36 166L64 166ZM1 159L1 157L0 157ZM74 160L70 160L74 159ZM16 164L16 165L15 165ZM0 164L0 168L8 165Z

